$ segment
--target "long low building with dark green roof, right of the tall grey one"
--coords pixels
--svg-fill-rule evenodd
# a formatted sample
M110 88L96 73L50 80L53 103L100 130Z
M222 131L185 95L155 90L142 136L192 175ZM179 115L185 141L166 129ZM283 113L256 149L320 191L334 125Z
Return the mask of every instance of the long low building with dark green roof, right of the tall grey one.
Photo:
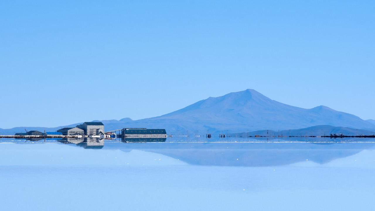
M121 130L123 139L139 138L166 138L165 129L147 129L147 128L123 128Z

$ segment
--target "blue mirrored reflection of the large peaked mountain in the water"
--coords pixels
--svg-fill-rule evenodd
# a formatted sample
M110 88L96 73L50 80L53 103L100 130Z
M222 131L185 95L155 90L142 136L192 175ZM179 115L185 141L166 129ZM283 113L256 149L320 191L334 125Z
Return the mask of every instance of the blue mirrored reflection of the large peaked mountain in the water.
M363 141L363 140L362 140ZM105 149L154 152L202 166L281 166L303 161L324 164L338 158L374 149L375 143L165 143L119 145Z

